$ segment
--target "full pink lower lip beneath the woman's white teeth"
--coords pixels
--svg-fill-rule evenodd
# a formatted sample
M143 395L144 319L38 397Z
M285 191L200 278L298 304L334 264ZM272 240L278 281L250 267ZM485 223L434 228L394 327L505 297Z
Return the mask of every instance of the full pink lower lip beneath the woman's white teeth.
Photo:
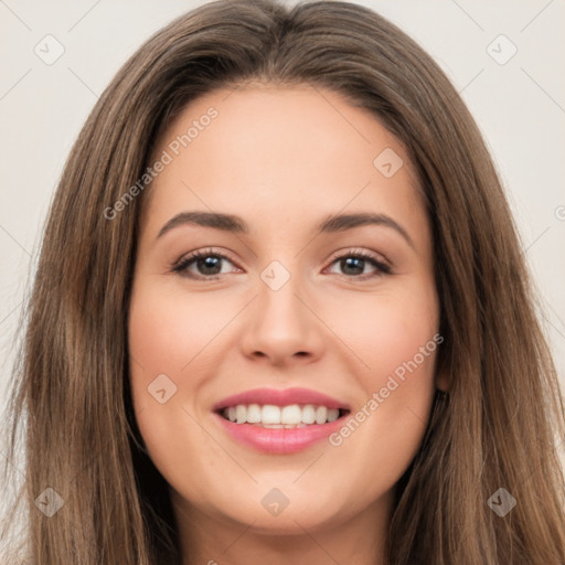
M295 454L321 441L343 426L344 417L303 428L264 428L253 424L234 424L214 413L224 429L241 444L267 454Z

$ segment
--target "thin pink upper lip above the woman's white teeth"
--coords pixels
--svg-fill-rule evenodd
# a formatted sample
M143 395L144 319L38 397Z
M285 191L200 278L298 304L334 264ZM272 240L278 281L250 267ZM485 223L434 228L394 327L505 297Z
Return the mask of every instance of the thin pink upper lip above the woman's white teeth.
M328 408L349 411L349 406L327 394L309 388L253 388L239 394L228 396L214 405L214 411L221 411L237 404L271 404L274 406L288 406L290 404L315 404Z

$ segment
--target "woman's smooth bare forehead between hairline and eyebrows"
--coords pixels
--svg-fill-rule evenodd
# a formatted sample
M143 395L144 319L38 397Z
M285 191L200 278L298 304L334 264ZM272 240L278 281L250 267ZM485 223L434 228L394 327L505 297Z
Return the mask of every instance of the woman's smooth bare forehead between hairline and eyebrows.
M211 209L279 232L340 211L424 221L402 143L371 113L319 87L210 93L169 126L153 160L163 152L170 162L152 183L150 221Z

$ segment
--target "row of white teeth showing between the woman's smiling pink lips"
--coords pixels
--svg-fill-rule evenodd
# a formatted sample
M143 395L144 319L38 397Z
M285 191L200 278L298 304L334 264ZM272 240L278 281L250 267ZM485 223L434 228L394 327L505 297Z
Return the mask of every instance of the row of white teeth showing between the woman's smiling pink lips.
M340 417L339 408L312 404L275 406L273 404L238 404L222 412L223 416L236 424L256 424L265 428L296 428L310 424L326 424Z

